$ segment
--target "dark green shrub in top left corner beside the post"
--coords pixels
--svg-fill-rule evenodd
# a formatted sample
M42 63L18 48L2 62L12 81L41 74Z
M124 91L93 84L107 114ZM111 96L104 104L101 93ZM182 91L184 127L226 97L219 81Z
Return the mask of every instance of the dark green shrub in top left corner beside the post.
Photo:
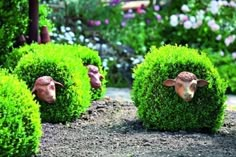
M27 0L0 1L0 61L13 47L16 38L26 32L27 10Z

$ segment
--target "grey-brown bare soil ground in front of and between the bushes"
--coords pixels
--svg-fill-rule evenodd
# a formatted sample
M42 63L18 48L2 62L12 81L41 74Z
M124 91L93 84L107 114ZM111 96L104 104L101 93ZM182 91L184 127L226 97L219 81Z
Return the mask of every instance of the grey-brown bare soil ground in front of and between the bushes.
M132 102L95 101L80 119L43 124L37 157L235 157L236 112L215 134L146 130Z

